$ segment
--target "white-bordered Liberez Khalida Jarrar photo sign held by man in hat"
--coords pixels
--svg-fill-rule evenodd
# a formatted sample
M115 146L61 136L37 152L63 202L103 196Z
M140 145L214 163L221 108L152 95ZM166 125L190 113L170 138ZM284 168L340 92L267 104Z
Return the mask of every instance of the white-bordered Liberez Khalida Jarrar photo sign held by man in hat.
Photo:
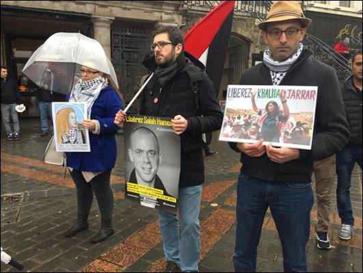
M228 86L219 140L310 150L317 86Z

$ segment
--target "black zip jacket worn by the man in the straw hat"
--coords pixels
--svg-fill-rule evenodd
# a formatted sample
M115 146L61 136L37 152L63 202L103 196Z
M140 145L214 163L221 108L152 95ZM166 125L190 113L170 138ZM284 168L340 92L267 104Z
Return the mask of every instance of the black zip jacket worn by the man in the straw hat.
M299 159L284 164L274 163L266 153L261 157L241 153L243 174L267 181L310 182L312 162L334 155L348 143L349 128L336 72L311 54L304 50L280 83L281 86L318 87L311 151L300 150ZM271 86L269 68L265 64L253 66L242 74L240 84ZM238 151L236 145L230 143L231 148Z

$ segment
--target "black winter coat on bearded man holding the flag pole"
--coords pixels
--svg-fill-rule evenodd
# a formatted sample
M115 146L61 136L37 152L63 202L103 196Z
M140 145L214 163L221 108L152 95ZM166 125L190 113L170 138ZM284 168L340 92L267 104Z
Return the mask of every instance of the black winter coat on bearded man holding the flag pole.
M223 120L213 83L201 68L194 65L198 60L193 60L192 63L189 59L191 56L185 57L185 53L180 53L176 76L165 83L162 90L157 81L151 79L140 100L142 115L171 118L181 115L188 120L187 131L180 135L179 187L200 185L204 182L202 133L220 129ZM157 68L153 55L146 57L143 64L152 71ZM186 70L198 78L196 94L192 92Z

